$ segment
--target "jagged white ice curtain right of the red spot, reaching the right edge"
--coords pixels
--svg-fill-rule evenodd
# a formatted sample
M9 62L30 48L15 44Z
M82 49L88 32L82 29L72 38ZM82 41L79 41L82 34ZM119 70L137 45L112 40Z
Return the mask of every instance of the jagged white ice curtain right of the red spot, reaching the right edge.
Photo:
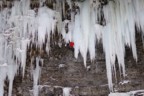
M125 76L125 46L132 49L137 61L135 44L135 26L143 30L143 1L112 0L103 5L98 0L76 2L79 9L74 21L64 21L69 32L62 31L66 42L74 41L75 57L81 53L86 66L87 53L90 59L95 59L96 41L102 40L105 52L106 69L109 89L113 91L113 76L116 78L115 61L118 60L120 75ZM102 10L102 13L100 12ZM101 16L103 15L103 17ZM104 18L102 21L99 19ZM102 23L102 24L100 24Z

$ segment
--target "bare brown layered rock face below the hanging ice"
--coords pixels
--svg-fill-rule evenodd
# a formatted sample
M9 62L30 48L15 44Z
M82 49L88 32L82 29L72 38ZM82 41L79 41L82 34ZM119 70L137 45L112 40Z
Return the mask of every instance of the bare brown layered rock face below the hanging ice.
M127 92L144 88L144 51L141 34L137 34L138 61L133 59L132 52L126 48L125 78L117 72L117 81L114 79L114 88L118 92ZM17 74L13 85L12 96L33 96L33 80L27 63L25 77ZM73 56L73 49L58 45L51 48L49 56L44 57L39 80L39 96L63 96L63 88L71 88L72 96L108 96L106 65L101 44L97 46L96 60L92 63L87 60L88 67L83 65L83 59ZM5 82L5 95L7 96L8 82Z

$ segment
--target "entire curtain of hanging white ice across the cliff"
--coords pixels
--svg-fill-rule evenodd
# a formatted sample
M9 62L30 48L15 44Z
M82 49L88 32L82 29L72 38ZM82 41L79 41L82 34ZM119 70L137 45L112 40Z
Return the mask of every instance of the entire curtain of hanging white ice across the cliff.
M118 60L120 75L125 76L125 46L132 49L137 61L135 44L135 26L144 35L144 0L48 0L53 9L43 6L45 0L39 0L40 7L30 8L30 0L14 1L12 8L0 11L0 96L6 77L9 80L9 96L12 94L13 80L18 70L25 74L28 48L35 47L39 54L33 70L34 93L38 95L41 54L43 44L47 53L50 50L50 36L57 29L65 43L74 42L74 56L79 53L86 65L87 54L93 61L96 56L96 43L102 41L105 52L107 78L110 91L113 91L113 76L116 75L115 61ZM70 18L66 18L65 3L69 5ZM73 9L73 3L76 9ZM0 1L2 6L2 2ZM144 36L142 36L143 38ZM144 38L143 38L144 39ZM32 49L32 51L34 51ZM33 63L32 63L33 65Z

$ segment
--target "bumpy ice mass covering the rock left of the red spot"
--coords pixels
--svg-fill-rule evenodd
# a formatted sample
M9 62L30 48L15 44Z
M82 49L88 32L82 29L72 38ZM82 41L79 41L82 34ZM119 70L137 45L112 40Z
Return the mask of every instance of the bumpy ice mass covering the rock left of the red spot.
M12 95L13 80L19 68L22 69L24 77L27 47L35 44L41 50L43 43L46 43L46 50L49 52L50 34L51 31L54 33L56 26L55 13L48 7L40 7L36 15L35 10L30 9L30 0L14 1L11 9L4 8L0 12L0 96L4 93L6 77L9 80L9 96ZM38 93L37 84L40 75L38 63L43 61L38 57L35 59L34 93Z

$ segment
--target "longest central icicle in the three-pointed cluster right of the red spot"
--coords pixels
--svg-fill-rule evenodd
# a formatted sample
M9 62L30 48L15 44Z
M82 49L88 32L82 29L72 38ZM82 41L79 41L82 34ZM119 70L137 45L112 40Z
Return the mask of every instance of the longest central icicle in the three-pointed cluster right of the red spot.
M90 33L90 1L84 1L80 6L81 16L81 30L83 34L83 51L82 56L84 59L84 65L86 67L87 51L88 51L88 37Z

